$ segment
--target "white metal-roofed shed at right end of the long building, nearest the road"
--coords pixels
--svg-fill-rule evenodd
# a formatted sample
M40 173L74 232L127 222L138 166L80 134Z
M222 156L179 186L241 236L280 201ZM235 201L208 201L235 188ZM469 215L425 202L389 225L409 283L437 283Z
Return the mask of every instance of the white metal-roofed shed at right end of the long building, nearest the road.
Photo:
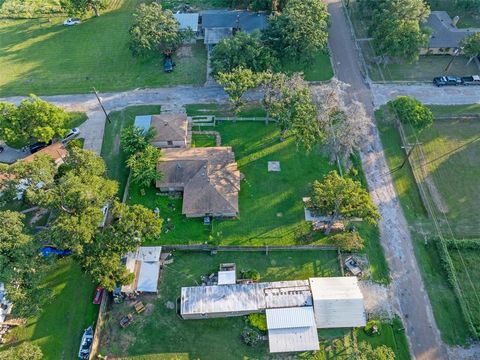
M317 328L365 326L363 294L356 277L310 278L310 288Z

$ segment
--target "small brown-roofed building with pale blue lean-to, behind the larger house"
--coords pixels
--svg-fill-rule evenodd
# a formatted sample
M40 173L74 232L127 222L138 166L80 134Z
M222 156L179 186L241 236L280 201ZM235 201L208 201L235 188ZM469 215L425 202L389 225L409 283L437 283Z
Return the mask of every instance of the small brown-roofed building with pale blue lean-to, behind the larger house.
M145 132L155 129L150 143L158 148L184 148L188 143L188 118L185 114L141 115L134 125Z

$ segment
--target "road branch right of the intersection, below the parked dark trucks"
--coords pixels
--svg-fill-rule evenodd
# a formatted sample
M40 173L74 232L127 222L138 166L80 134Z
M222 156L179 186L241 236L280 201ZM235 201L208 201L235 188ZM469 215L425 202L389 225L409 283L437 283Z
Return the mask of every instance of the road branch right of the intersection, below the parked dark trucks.
M371 89L376 106L383 105L399 95L413 96L425 104L459 105L480 103L480 86L437 88L431 84L372 84Z

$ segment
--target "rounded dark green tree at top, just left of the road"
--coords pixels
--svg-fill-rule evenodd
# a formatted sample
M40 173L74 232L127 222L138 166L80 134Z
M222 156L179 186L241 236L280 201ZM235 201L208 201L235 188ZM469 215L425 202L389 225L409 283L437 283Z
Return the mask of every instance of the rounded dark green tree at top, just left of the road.
M322 0L289 0L283 11L269 19L266 43L284 59L312 59L325 49L329 14Z

